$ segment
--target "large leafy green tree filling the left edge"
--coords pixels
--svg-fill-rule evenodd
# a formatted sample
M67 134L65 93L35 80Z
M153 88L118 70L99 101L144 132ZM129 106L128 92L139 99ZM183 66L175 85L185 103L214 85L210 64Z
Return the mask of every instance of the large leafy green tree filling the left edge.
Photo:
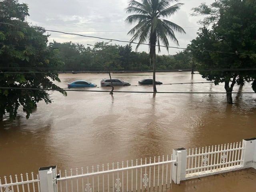
M20 27L29 27L25 22L26 16L29 16L27 4L19 4L18 0L0 1L0 21L14 24L0 24L0 86L60 89L52 82L60 82L58 74L47 73L48 69L52 71L50 68L59 68L62 64L56 57L58 50L47 48L48 36L44 35L44 29ZM46 73L36 73L42 71L36 68ZM62 89L59 92L66 95ZM26 118L29 118L32 109L41 100L47 104L52 101L50 94L44 90L0 89L0 120L6 112L10 120L14 120L19 106L23 106Z

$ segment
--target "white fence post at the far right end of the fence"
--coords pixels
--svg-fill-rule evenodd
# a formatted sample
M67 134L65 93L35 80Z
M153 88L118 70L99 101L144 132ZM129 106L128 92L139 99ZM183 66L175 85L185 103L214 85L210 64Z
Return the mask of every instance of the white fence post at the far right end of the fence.
M253 167L256 169L256 138L243 139L244 152L241 156L242 166Z

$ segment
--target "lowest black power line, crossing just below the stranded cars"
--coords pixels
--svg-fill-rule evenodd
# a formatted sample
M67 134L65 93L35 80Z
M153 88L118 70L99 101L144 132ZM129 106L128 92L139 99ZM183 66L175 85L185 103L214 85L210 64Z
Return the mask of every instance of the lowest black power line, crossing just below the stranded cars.
M104 91L104 90L70 90L70 89L44 89L44 88L17 88L0 87L0 89L14 90L45 90L45 91L77 91L77 92L116 92L116 93L168 93L168 94L255 94L255 92L151 92L151 91Z

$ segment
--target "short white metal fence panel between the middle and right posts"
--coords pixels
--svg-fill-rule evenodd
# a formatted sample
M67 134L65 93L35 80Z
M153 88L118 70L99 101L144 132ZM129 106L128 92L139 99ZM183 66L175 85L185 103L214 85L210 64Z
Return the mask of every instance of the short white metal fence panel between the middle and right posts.
M188 150L186 179L242 167L241 142Z

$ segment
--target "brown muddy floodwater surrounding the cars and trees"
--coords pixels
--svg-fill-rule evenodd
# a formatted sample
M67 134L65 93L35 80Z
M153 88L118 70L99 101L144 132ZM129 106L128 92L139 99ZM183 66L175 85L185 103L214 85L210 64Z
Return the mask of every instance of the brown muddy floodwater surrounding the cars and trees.
M137 85L151 73L116 73ZM100 86L108 74L60 74L62 88L73 80L88 80ZM163 83L206 82L190 72L160 72ZM82 88L86 89L86 88ZM87 88L110 90L110 88ZM223 84L160 85L166 92L224 92ZM126 86L115 90L152 91L152 86ZM247 83L234 91L251 92ZM233 105L225 94L160 94L108 92L50 92L53 103L40 102L26 120L18 117L0 123L0 177L37 172L57 165L64 170L107 162L171 154L173 148L192 148L241 141L256 136L256 95L233 94ZM255 191L256 171L188 180L172 191Z

